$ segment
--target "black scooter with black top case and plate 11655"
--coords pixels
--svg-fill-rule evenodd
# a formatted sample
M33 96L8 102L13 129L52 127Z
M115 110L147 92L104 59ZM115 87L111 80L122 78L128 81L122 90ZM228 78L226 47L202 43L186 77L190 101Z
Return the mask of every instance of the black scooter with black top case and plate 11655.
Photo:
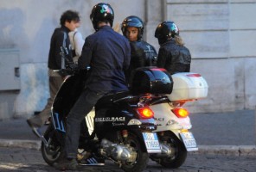
M63 58L67 55L64 52ZM68 64L70 76L54 98L51 123L41 136L42 157L48 165L63 154L66 117L85 86L87 71L74 70L73 65ZM87 114L81 123L78 163L86 165L82 160L93 155L117 163L126 172L143 171L150 154L161 153L149 103L171 90L172 79L167 71L145 68L135 72L131 91L102 97L94 107L95 114Z

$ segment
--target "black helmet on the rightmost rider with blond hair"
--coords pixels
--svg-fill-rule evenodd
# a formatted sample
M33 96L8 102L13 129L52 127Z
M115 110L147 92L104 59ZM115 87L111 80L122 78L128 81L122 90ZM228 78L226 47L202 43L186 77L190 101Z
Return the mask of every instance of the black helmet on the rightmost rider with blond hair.
M159 44L174 38L175 35L179 35L179 28L171 21L160 23L155 32L155 37L158 39Z

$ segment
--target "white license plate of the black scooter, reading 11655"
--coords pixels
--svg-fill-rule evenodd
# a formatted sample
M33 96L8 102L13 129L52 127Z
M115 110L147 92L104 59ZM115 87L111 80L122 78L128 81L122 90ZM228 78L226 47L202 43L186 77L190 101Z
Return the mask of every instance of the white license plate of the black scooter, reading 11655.
M161 153L157 133L143 132L144 142L148 153Z

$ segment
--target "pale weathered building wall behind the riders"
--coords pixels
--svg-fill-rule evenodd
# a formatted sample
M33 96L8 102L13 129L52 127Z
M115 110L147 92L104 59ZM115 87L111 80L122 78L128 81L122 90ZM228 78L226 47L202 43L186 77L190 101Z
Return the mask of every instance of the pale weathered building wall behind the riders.
M0 0L0 48L17 49L20 57L21 88L14 93L17 95L11 95L14 100L9 109L12 108L14 114L10 117L41 111L47 101L49 41L54 28L59 26L61 13L67 9L79 11L80 31L86 37L93 33L89 15L93 5L99 2ZM145 22L144 40L157 50L159 46L154 37L157 24L164 20L176 22L193 57L191 71L201 73L209 85L207 99L187 103L191 112L255 107L256 0L105 2L115 10L114 26L128 15L140 16Z

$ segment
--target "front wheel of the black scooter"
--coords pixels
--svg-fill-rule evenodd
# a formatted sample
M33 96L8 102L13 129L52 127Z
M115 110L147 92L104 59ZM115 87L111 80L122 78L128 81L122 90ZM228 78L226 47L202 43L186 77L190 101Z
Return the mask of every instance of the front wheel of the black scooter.
M44 138L48 141L48 147L42 142L42 157L48 165L53 166L62 156L61 145L55 138L54 126L50 124L44 133Z

